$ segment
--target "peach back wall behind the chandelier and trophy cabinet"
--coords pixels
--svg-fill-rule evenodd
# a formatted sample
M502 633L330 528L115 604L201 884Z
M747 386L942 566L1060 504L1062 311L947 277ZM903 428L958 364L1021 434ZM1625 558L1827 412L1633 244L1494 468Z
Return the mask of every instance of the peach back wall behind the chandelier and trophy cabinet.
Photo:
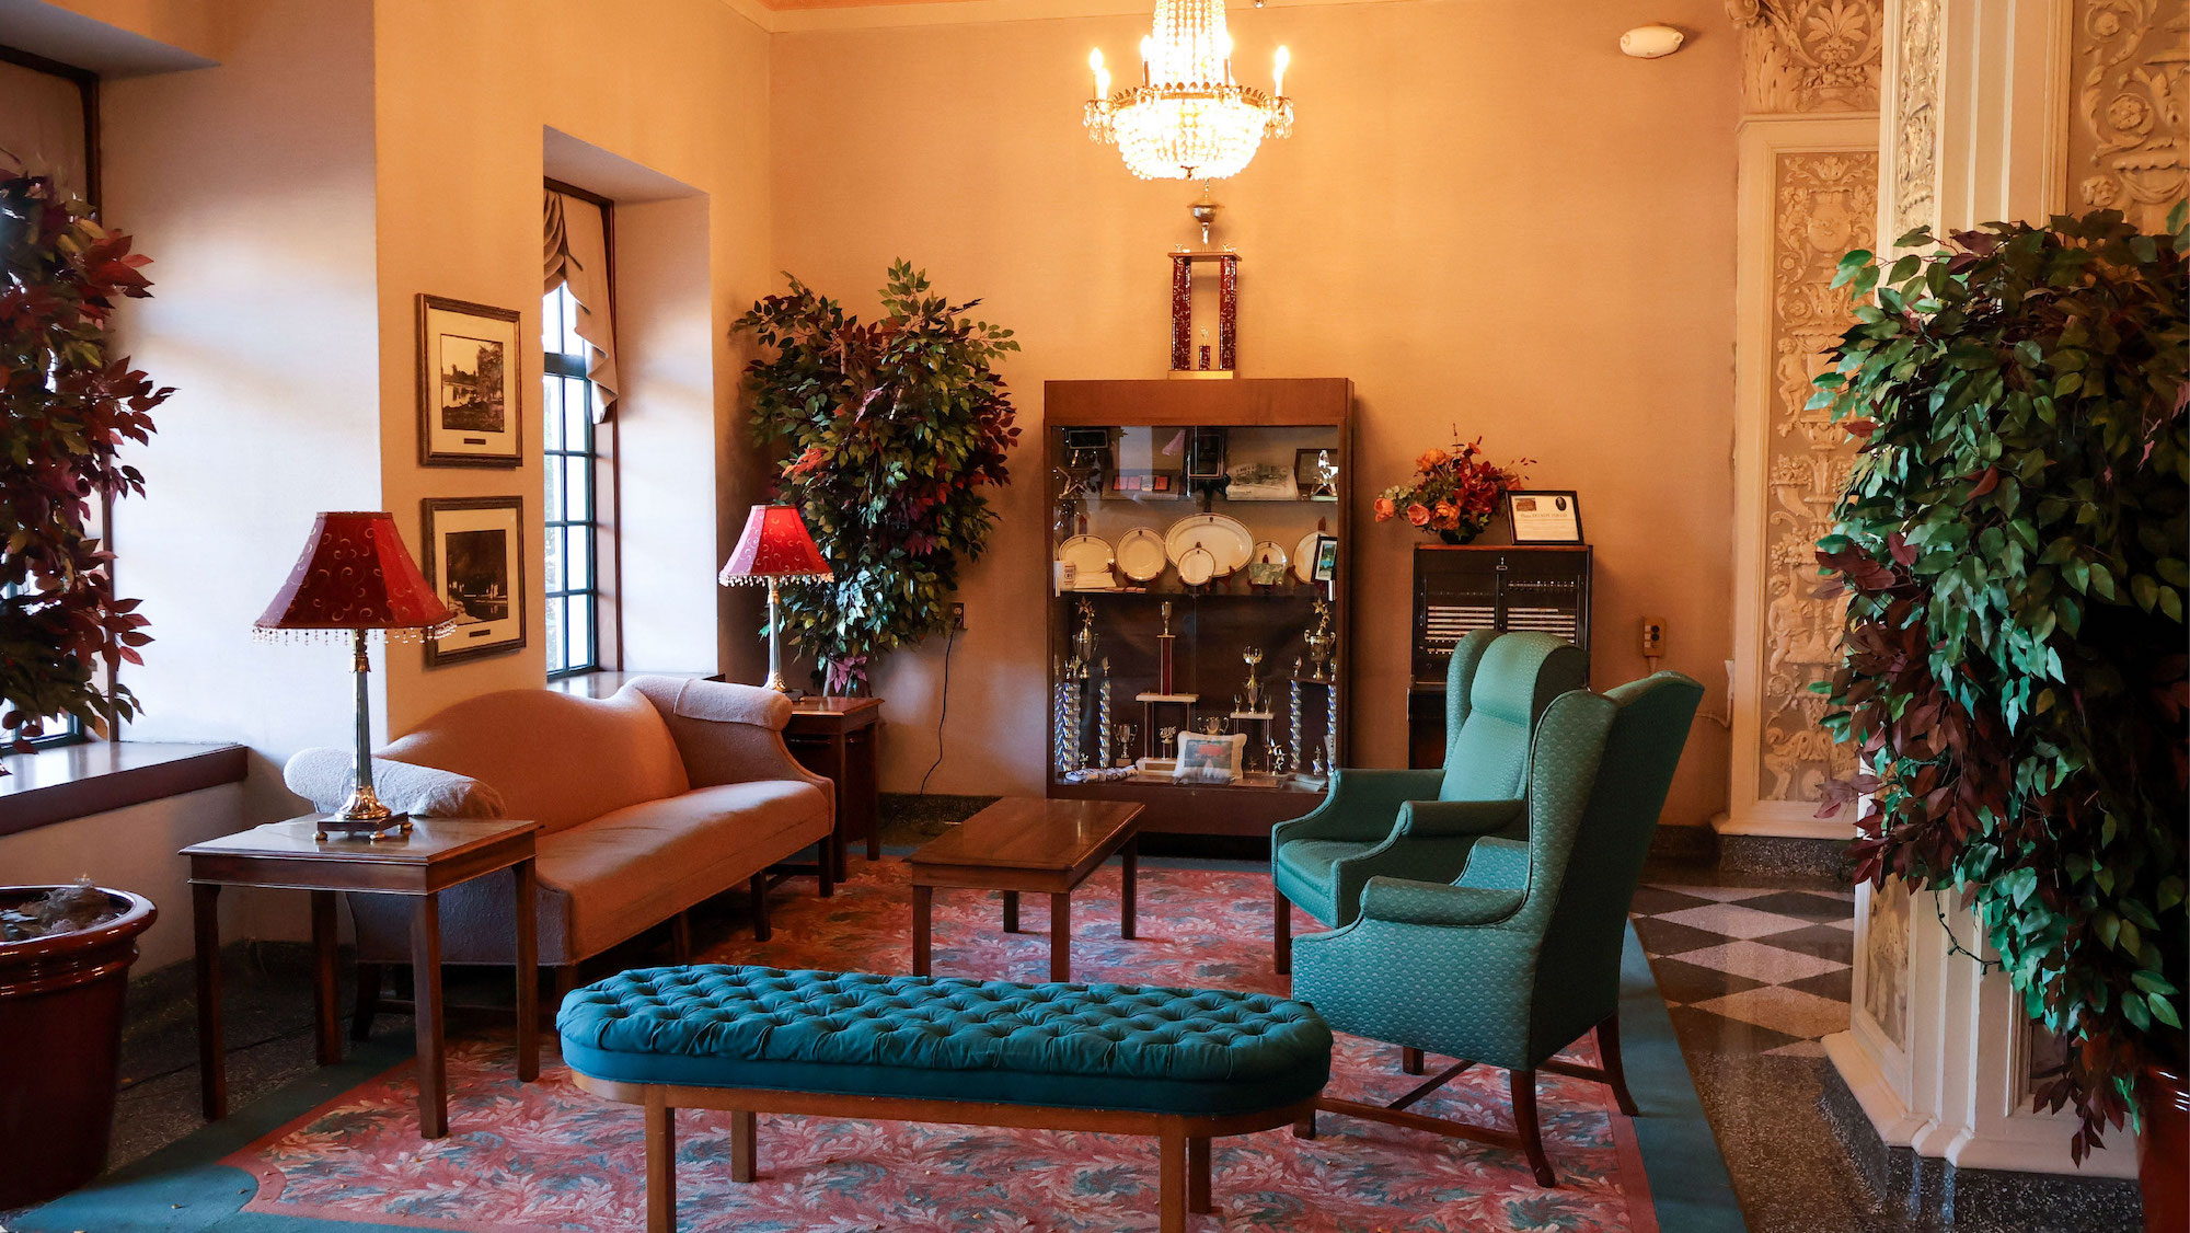
M1671 59L1616 50L1642 20ZM1404 762L1408 548L1367 499L1459 425L1537 486L1579 488L1597 545L1599 683L1640 677L1636 624L1721 710L1728 655L1734 39L1715 0L1404 0L1233 9L1235 66L1294 53L1299 134L1215 186L1244 254L1242 368L1358 392L1358 749ZM1086 53L1132 64L1145 18L780 33L773 265L872 309L907 256L1018 331L1005 366L1027 447L964 587L933 791L1038 791L1047 379L1161 377L1167 269L1194 188L1137 182L1080 129ZM817 158L815 151L828 151ZM942 648L898 655L885 788L935 756ZM1669 823L1726 802L1726 736L1697 721Z

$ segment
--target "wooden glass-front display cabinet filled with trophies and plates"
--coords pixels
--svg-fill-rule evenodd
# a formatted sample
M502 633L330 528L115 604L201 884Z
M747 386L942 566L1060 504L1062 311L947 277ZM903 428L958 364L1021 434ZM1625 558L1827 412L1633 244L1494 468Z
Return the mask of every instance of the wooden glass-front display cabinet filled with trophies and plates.
M1049 740L1045 782L1058 799L1134 802L1145 808L1143 830L1194 834L1268 834L1270 826L1312 810L1321 784L1294 771L1270 771L1270 742L1292 751L1292 696L1301 699L1301 747L1312 751L1325 731L1336 760L1349 756L1351 707L1351 565L1353 537L1353 383L1347 379L1231 379L1231 381L1049 381L1045 388L1045 482L1049 504L1042 537L1042 587L1049 596ZM1222 456L1226 486L1213 491L1202 475ZM1318 471L1327 460L1334 471ZM1281 473L1281 475L1279 475ZM1299 477L1307 477L1301 484ZM1286 480L1292 491L1286 491ZM1327 480L1327 493L1316 493ZM1077 495L1071 495L1077 491ZM1275 543L1286 554L1283 578L1255 585L1248 569L1189 587L1169 558L1150 580L1132 580L1117 563L1134 528L1169 537L1189 515L1224 515L1246 526L1253 543ZM1303 580L1294 558L1314 534L1336 539L1329 580ZM1110 583L1119 589L1058 591L1058 548L1075 537L1102 539L1110 554ZM1145 548L1143 548L1145 550ZM1082 580L1084 583L1084 580ZM1334 635L1327 681L1292 688L1294 659L1312 675L1305 635L1314 629L1316 600L1329 607ZM1088 604L1097 655L1088 679L1069 675L1075 657L1080 604ZM1172 758L1150 731L1148 707L1137 701L1159 685L1163 607L1172 607L1174 694L1198 701L1161 703L1154 727L1194 725L1215 716L1248 734L1246 769L1231 784L1178 784L1169 771L1139 769L1130 780L1069 782L1082 764L1115 762L1115 736L1130 723L1137 758ZM1233 718L1246 679L1244 650L1261 648L1259 677L1268 718ZM1097 756L1099 679L1108 661L1113 749ZM1248 707L1240 707L1248 710ZM1064 721L1060 723L1060 714Z

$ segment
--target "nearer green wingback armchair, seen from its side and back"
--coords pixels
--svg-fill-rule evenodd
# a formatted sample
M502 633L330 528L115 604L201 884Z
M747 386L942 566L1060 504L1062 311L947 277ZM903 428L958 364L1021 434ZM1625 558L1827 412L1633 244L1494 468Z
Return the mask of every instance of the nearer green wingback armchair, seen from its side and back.
M1618 1051L1627 904L1702 699L1680 672L1555 699L1535 731L1524 841L1480 810L1480 832L1454 839L1474 850L1456 883L1371 878L1353 924L1301 937L1292 996L1334 1029L1459 1060L1393 1106L1318 1108L1522 1148L1546 1187L1537 1071L1612 1084L1634 1115ZM1586 1032L1599 1067L1555 1058ZM1511 1071L1518 1134L1406 1113L1478 1062Z

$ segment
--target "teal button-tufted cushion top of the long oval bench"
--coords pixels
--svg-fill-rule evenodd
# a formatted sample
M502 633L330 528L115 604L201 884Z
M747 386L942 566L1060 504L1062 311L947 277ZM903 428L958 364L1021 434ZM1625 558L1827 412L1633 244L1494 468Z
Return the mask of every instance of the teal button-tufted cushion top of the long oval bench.
M1303 1003L1226 990L642 968L563 999L563 1058L642 1082L1226 1115L1329 1080Z

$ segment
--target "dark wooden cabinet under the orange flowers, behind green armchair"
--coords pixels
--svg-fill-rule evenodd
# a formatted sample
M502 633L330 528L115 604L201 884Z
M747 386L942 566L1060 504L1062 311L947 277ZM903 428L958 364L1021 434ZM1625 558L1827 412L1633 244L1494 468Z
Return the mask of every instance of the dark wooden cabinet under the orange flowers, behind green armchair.
M1590 545L1415 545L1406 764L1445 760L1445 668L1476 629L1537 629L1590 650Z

